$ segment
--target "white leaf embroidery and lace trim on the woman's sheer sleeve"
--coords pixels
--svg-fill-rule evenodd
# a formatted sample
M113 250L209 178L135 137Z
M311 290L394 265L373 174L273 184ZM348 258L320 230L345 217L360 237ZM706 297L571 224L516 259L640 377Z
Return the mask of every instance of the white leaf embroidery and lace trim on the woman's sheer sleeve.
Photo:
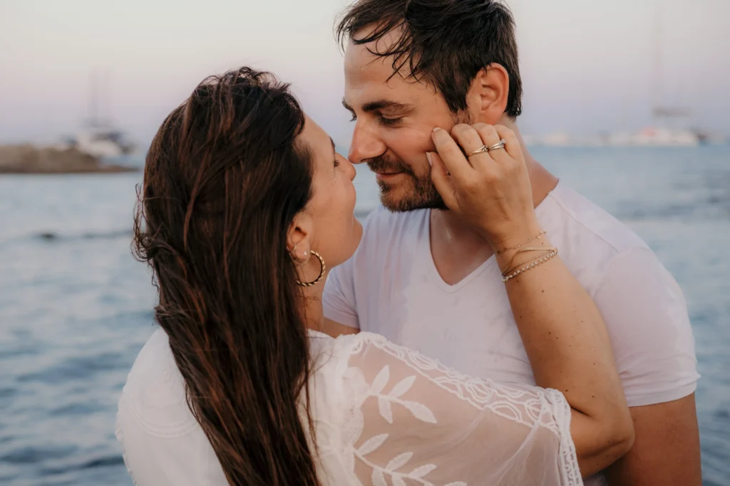
M389 424L393 423L393 407L403 407L410 414L423 423L437 423L434 413L429 407L419 401L410 401L403 399L404 393L412 388L412 385L419 378L430 380L449 393L457 396L458 399L464 400L476 409L493 412L502 418L507 418L516 423L521 423L527 427L535 424L547 428L556 436L569 437L569 415L561 417L562 423L567 424L558 429L558 423L549 412L550 408L545 407L546 401L551 403L558 401L563 404L565 413L569 414L569 407L564 404L564 397L557 392L548 390L536 393L534 387L512 385L509 387L500 386L491 380L481 380L468 377L456 372L454 369L445 367L439 361L426 358L407 348L394 345L385 340L384 337L377 335L360 334L353 347L350 348L350 356L356 356L363 352L364 346L369 345L382 350L388 355L393 356L397 360L410 367L415 374L402 378L398 383L391 385L391 370L385 365L372 380L367 383L366 378L361 369L358 367L349 367L345 372L345 381L352 387L351 396L354 399L352 408L350 409L349 420L345 424L345 444L350 448L350 471L354 471L355 460L359 460L372 469L372 485L388 486L386 478L391 479L393 486L405 486L408 479L410 482L424 486L437 486L427 479L432 471L438 469L436 464L430 463L423 466L415 467L415 469L407 467L408 463L414 456L414 452L402 452L392 458L385 466L375 463L369 459L369 455L380 449L383 444L388 441L389 434L377 434L366 439L359 447L355 444L360 442L361 434L364 430L364 416L362 406L367 399L377 400L377 409L380 416ZM386 392L386 389L390 389ZM548 396L546 396L546 393ZM557 398L556 398L557 396ZM562 401L561 401L562 400ZM582 485L580 478L580 470L575 459L575 446L572 441L566 441L569 445L564 444L561 440L561 450L559 452L559 462L564 476L565 485ZM354 478L354 474L353 474ZM361 486L359 479L353 479L356 485ZM466 482L450 482L443 486L468 486Z

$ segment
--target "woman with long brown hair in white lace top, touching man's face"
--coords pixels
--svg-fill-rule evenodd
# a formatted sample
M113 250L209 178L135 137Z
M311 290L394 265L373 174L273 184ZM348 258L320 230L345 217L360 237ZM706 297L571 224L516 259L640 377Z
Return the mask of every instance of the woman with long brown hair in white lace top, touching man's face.
M506 276L521 270L510 296L546 299L544 317L518 319L546 388L467 377L374 334L320 332L326 265L361 238L353 165L271 75L201 83L145 165L136 244L161 329L119 404L136 484L579 485L623 455L633 429L606 330L539 234L519 146L503 133L495 157L512 170L497 182L531 238L494 246ZM469 215L475 187L457 174L469 162L444 130L434 143L445 201L494 235L504 215Z

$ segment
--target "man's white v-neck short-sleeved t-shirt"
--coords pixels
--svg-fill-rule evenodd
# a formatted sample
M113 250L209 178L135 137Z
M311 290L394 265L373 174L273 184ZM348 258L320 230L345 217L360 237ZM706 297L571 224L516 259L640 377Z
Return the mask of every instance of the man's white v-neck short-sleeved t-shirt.
M603 315L629 406L693 393L699 375L685 299L655 254L562 182L536 211ZM329 275L325 316L469 375L534 384L496 260L448 285L431 256L429 216L371 213L356 254Z

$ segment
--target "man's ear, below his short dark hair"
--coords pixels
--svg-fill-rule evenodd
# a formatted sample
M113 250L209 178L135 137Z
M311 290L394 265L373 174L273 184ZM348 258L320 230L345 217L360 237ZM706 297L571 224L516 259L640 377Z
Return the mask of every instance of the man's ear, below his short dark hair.
M475 121L495 125L507 109L510 98L510 75L501 64L490 64L472 80L467 99Z

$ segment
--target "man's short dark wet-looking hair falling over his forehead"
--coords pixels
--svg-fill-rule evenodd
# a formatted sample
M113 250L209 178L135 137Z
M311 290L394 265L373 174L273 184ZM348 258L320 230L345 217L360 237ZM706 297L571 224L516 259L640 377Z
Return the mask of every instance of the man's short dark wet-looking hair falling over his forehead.
M371 28L365 36L358 36ZM506 5L492 0L359 0L343 12L337 40L377 42L393 30L401 35L387 49L369 48L379 57L393 56L393 75L407 66L408 77L439 90L449 109L466 109L466 93L480 69L502 65L510 76L505 112L522 113L515 21Z

